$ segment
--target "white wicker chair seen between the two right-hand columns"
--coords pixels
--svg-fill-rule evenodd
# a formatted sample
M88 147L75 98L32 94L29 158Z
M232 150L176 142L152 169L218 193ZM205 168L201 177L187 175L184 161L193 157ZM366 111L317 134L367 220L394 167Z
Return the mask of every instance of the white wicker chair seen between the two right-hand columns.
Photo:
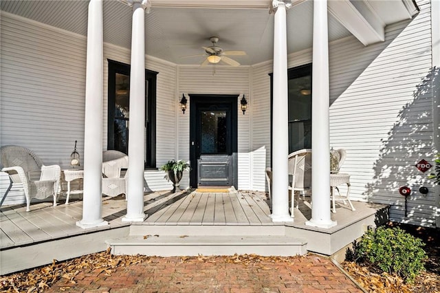
M295 193L311 192L311 149L300 149L289 154L289 175L292 175L289 190L292 191L291 215L294 215ZM298 208L298 202L296 204Z

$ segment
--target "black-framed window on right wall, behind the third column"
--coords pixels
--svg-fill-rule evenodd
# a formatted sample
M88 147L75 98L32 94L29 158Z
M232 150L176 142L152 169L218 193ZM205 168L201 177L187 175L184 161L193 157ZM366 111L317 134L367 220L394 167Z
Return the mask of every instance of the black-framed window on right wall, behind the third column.
M270 74L271 85L273 74ZM311 64L288 69L289 153L311 149ZM273 95L273 89L271 96ZM271 97L271 109L272 109ZM273 116L274 113L271 113ZM271 117L272 133L272 117Z

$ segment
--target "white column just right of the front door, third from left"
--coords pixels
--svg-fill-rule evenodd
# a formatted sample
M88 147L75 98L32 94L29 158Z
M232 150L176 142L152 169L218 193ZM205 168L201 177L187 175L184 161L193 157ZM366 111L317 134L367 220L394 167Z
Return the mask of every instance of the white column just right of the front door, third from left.
M286 6L290 1L273 1L274 19L274 101L272 112L272 221L293 221L289 215L288 87ZM292 210L293 215L293 210Z

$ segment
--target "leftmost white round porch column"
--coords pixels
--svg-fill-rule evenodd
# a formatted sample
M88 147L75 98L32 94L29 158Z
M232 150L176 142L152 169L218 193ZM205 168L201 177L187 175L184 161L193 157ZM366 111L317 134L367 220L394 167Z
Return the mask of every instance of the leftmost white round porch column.
M102 219L102 87L103 41L102 0L90 0L87 23L85 83L84 198L81 228L107 225Z

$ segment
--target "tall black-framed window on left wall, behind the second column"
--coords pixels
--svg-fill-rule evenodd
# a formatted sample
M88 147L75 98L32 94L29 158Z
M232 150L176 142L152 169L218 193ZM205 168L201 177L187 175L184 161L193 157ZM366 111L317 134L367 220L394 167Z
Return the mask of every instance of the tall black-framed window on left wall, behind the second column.
M156 166L156 76L145 69L145 168ZM130 65L109 60L107 149L129 154Z

